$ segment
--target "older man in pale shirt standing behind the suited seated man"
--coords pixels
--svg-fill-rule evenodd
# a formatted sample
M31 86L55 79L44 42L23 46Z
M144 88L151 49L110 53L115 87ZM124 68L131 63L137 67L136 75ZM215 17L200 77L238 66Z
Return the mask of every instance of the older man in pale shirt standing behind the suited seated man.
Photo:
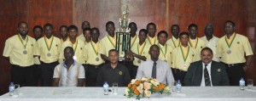
M207 47L212 49L213 58L212 60L219 62L219 57L216 55L216 48L218 43L218 37L213 36L213 25L207 24L205 26L205 36L201 37L201 39L206 42Z

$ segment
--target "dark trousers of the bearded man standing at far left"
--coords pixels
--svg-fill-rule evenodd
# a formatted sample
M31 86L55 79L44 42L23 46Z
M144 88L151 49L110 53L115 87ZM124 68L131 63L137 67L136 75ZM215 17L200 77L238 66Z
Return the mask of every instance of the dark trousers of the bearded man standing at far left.
M12 65L11 81L14 81L15 84L20 84L20 87L34 87L36 82L33 67L33 65L26 67Z

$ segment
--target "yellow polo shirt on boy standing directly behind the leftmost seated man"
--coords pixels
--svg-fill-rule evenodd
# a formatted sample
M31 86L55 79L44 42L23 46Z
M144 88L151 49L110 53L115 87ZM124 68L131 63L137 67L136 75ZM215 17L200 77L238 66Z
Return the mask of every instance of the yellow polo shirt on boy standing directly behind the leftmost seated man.
M79 64L85 64L85 57L84 57L84 42L79 40L77 38L77 41L73 44L70 41L63 42L61 47L61 53L60 53L60 62L63 61L64 58L64 49L66 47L72 47L74 50L74 56L76 57L76 61L79 62Z

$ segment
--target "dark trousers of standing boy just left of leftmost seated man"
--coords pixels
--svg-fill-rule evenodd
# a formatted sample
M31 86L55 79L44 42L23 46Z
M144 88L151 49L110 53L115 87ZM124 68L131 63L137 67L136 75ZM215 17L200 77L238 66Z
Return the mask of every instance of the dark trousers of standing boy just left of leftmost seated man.
M42 87L51 87L53 81L53 75L55 66L59 65L58 61L52 63L44 63L41 61L40 70L41 70L41 86Z

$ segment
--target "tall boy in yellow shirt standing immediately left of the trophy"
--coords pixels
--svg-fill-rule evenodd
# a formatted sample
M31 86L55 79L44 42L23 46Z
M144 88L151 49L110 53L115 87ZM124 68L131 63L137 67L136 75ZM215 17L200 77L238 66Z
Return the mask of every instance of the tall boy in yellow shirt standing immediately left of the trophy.
M104 36L101 40L100 50L101 57L103 60L108 61L108 51L115 49L116 46L116 35L114 33L115 27L112 21L108 21L106 24L107 36Z

